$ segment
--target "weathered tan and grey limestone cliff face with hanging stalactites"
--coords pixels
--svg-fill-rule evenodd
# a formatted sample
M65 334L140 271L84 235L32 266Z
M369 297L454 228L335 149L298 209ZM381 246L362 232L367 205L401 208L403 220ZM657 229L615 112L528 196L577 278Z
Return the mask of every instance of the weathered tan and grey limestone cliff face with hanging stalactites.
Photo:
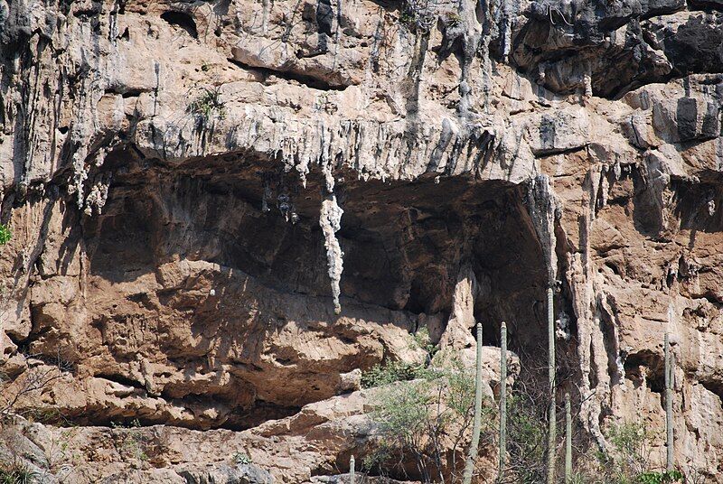
M19 407L81 425L72 481L221 482L223 446L331 475L352 372L419 327L544 358L552 258L581 428L662 429L668 331L676 461L722 482L719 10L0 0L0 365L67 370ZM94 427L124 419L144 469Z

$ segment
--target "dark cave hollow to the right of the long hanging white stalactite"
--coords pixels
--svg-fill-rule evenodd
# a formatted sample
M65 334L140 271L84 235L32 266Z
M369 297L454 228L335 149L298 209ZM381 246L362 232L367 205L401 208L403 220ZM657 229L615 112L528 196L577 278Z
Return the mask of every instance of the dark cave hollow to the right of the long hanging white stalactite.
M523 188L461 178L347 184L343 294L446 321L468 264L484 344L499 346L506 321L510 349L537 351L547 334L546 272Z

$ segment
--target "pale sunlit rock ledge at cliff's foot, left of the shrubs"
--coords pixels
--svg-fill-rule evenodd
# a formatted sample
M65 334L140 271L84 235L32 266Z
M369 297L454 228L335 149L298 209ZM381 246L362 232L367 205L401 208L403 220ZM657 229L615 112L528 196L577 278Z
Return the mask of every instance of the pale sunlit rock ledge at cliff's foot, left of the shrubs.
M474 355L465 364L474 367ZM517 358L512 357L511 364L512 383L519 371ZM500 380L499 351L485 348L483 368L484 393L493 397ZM48 482L333 481L343 479L334 476L348 467L350 455L371 451L377 426L370 412L385 391L372 388L333 396L242 432L139 423L52 427L14 419L0 433L0 458L20 459Z

